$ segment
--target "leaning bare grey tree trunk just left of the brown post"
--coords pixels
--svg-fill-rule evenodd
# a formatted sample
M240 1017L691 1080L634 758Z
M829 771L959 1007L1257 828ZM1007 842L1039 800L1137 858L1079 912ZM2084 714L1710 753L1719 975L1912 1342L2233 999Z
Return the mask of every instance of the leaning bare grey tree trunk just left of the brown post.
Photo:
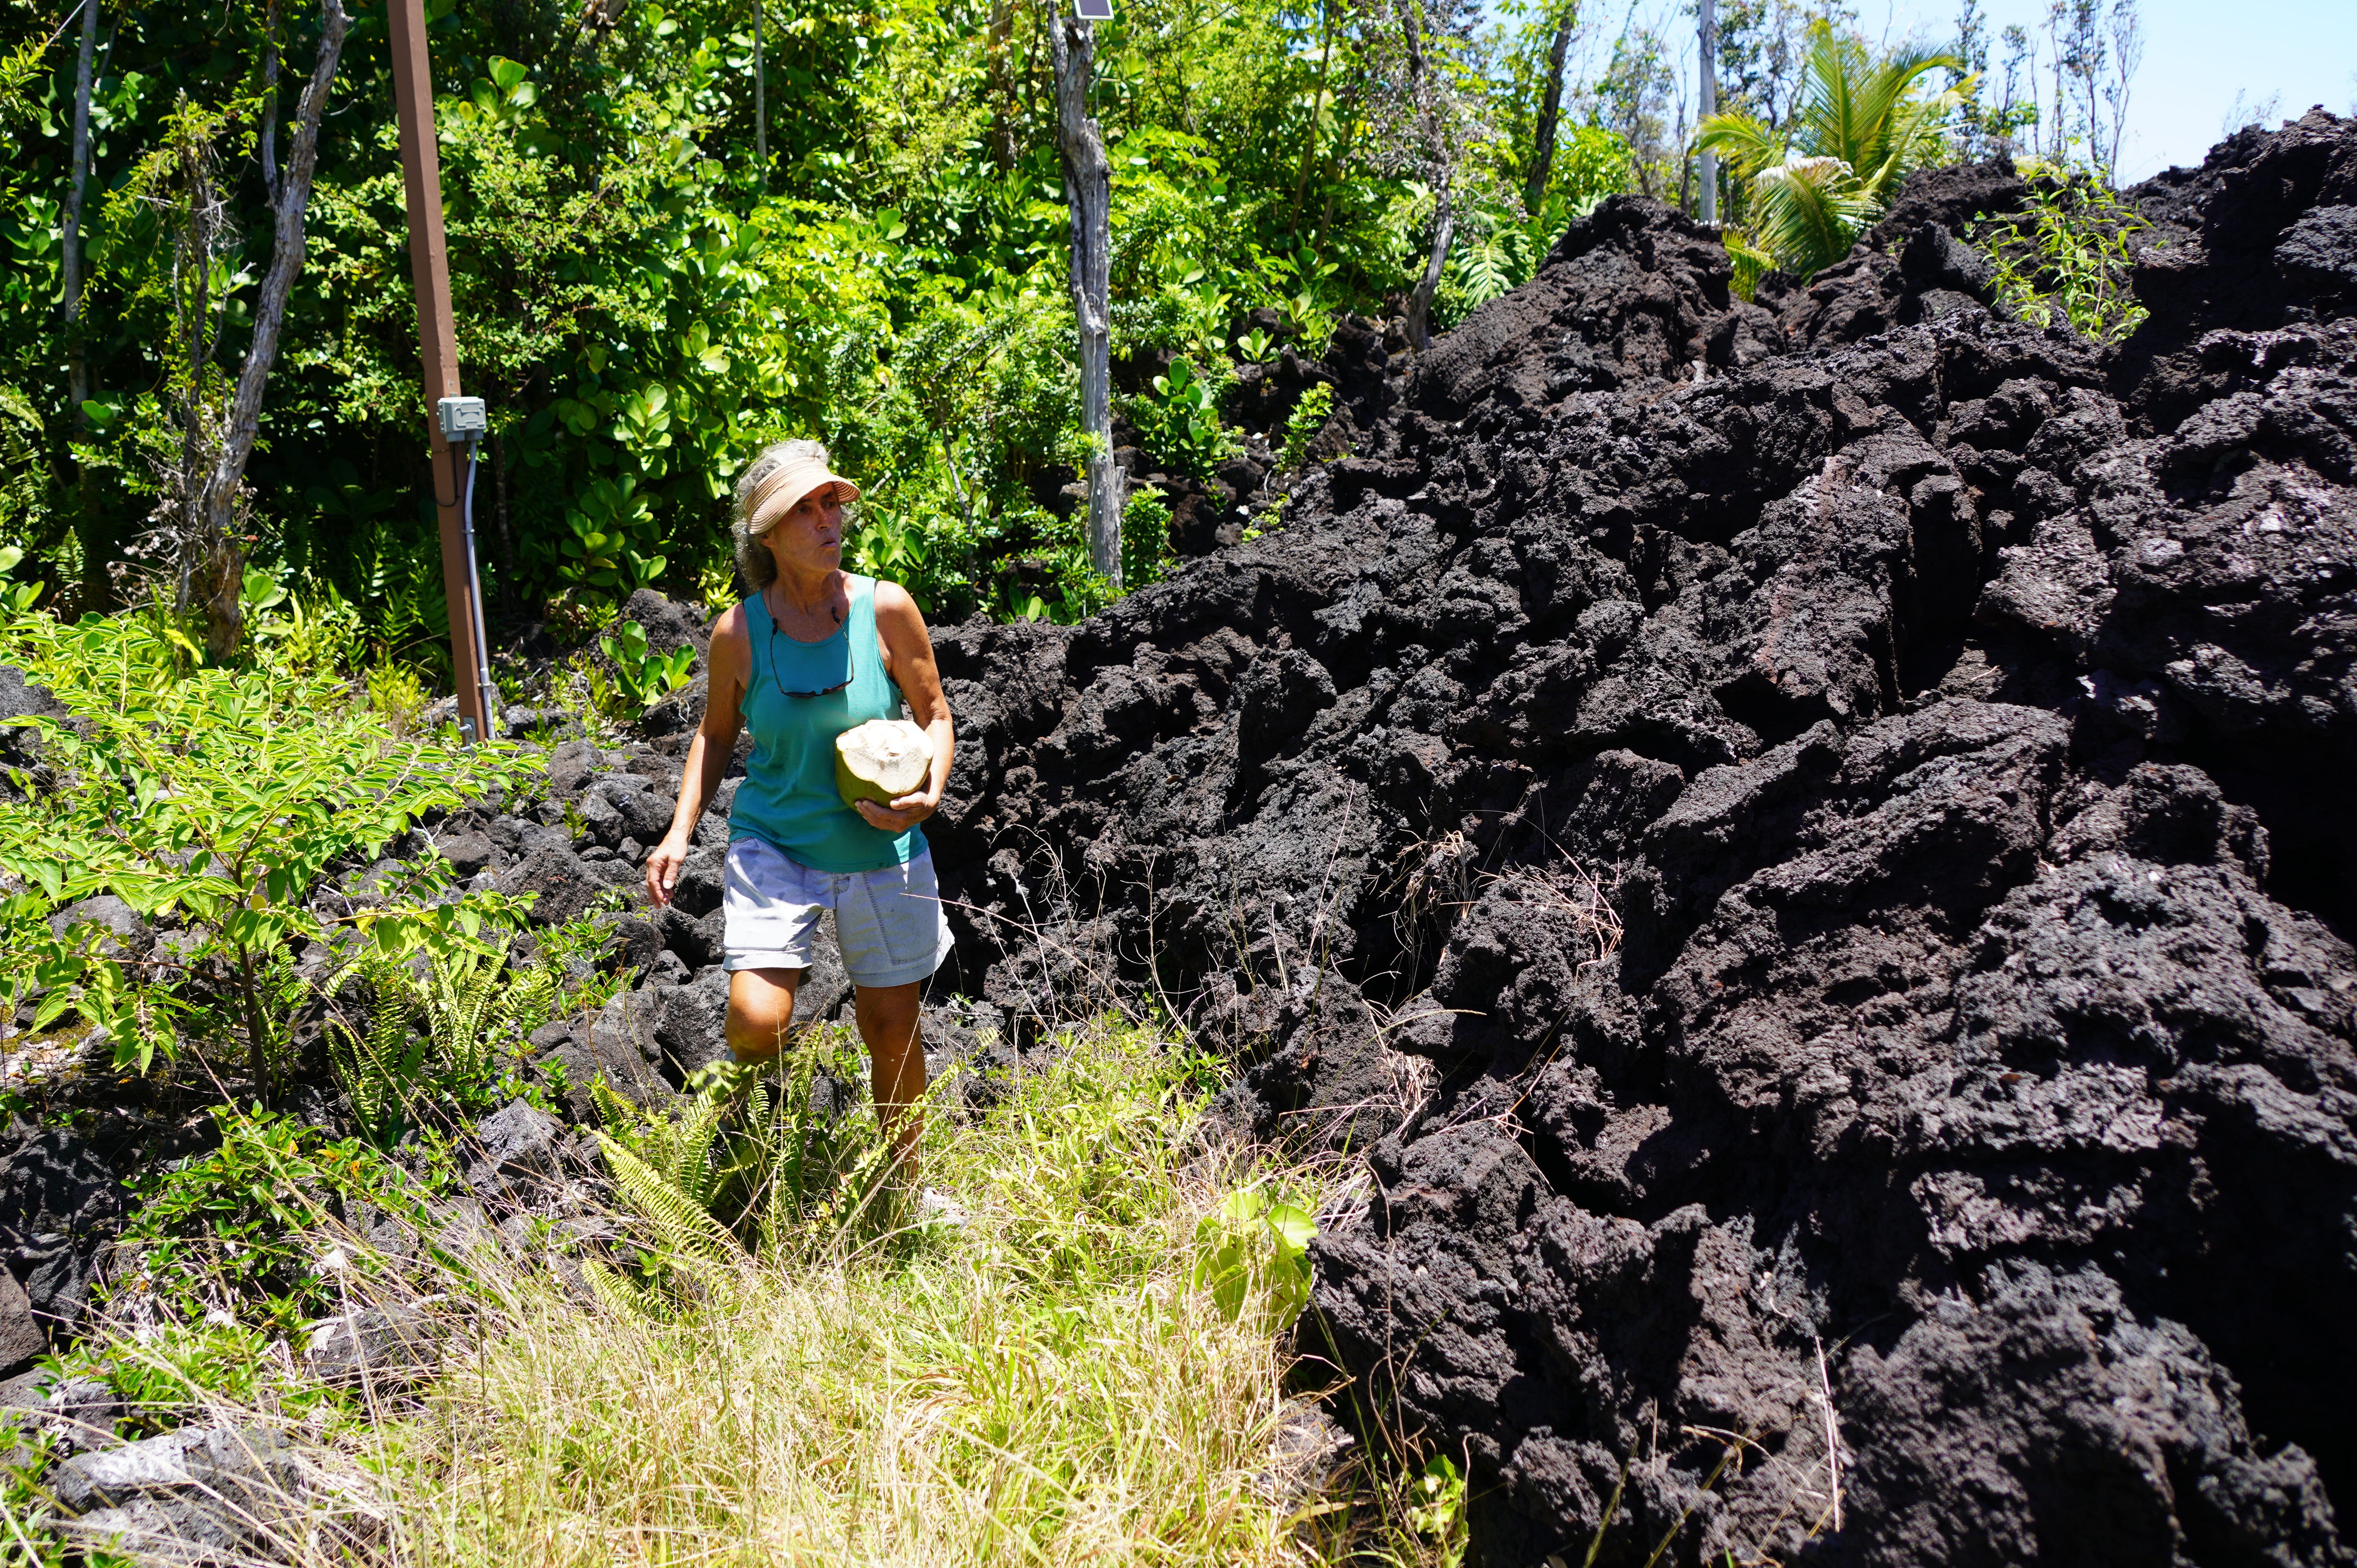
M311 66L311 83L295 108L295 146L288 149L285 179L278 186L276 241L271 269L262 278L262 295L255 299L255 340L245 349L245 365L238 370L238 389L229 398L229 415L222 420L222 443L212 453L193 516L186 519L191 535L181 571L181 611L203 606L205 648L214 658L226 658L245 637L245 549L240 547L233 519L238 498L245 490L245 462L255 455L255 436L262 429L262 389L271 380L271 363L278 358L278 332L285 325L288 295L295 292L295 274L302 271L304 210L311 203L311 177L318 170L318 120L328 108L328 85L335 80L335 61L344 52L344 5L321 2L318 59Z

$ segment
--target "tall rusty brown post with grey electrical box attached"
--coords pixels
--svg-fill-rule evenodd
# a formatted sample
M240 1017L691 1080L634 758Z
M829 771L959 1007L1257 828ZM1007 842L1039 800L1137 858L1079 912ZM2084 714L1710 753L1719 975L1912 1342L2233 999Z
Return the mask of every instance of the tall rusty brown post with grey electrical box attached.
M434 408L457 396L457 330L450 323L450 257L441 226L441 151L434 144L434 73L427 61L424 0L387 0L394 35L394 108L401 116L401 174L410 207L410 283L417 292L417 347L424 356L427 441L434 455L434 502L441 512L443 597L450 601L450 670L457 712L476 736L490 736L476 672L476 582L460 519L464 472L450 469ZM464 467L464 465L462 465Z

